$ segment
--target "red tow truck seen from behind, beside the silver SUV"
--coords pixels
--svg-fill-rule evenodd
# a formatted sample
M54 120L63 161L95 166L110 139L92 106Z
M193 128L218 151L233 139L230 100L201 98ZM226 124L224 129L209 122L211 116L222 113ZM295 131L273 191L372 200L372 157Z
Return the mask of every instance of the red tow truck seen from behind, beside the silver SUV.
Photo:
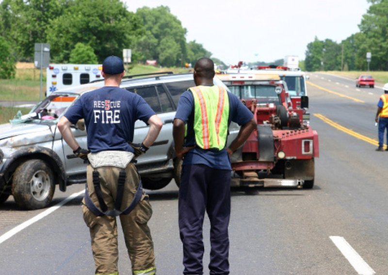
M318 133L303 120L308 97L292 107L285 81L277 74L217 75L254 114L258 127L230 158L231 186L314 185Z

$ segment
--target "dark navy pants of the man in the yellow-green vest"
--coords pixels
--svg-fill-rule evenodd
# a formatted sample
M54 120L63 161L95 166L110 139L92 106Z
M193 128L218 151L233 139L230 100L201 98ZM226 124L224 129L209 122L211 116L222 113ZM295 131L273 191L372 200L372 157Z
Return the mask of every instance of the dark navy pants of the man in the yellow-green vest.
M229 274L230 170L183 166L178 209L183 274L203 274L205 210L210 219L210 274Z

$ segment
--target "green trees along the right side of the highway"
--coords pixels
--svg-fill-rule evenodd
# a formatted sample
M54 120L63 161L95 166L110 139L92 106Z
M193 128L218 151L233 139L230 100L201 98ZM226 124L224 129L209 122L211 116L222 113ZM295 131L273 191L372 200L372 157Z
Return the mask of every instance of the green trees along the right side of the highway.
M388 0L367 1L371 6L362 16L358 25L359 32L340 43L315 37L314 41L307 45L307 71L366 71L367 52L372 54L370 70L388 70Z

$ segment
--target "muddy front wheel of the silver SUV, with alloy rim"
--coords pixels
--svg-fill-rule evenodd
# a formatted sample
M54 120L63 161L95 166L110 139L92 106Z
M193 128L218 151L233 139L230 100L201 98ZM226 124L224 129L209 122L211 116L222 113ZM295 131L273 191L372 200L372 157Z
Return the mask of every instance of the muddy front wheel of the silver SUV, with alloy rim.
M54 191L53 173L43 160L31 159L16 168L12 195L20 208L44 208L51 202Z

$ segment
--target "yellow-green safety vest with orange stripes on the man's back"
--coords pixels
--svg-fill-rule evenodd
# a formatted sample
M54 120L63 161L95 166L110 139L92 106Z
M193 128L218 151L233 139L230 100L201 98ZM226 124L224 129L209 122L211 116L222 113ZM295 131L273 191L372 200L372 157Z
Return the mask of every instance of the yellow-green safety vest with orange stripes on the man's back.
M229 97L221 86L189 88L194 96L195 143L202 149L222 150L226 145Z

